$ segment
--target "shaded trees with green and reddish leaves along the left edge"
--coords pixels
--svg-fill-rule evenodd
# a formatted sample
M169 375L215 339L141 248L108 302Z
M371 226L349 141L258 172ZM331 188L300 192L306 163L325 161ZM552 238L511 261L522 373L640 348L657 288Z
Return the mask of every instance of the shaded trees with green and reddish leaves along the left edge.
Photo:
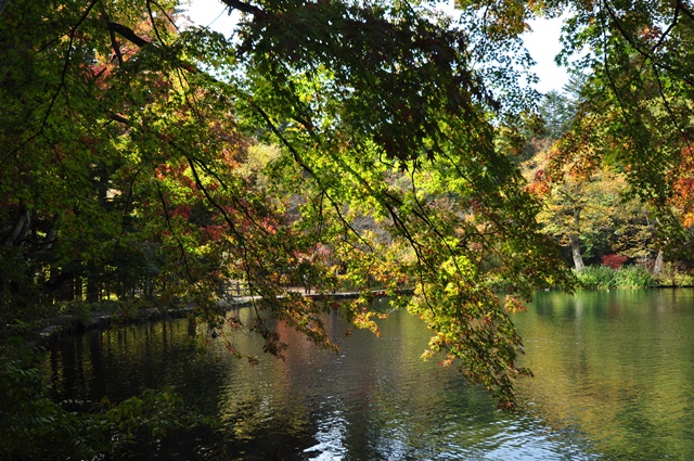
M211 141L219 133L210 131L219 127L203 121L207 114L191 111L197 107L185 91L195 92L195 85L181 78L181 56L157 55L151 42L174 40L171 7L158 4L151 22L142 11L99 2L85 9L68 2L57 10L11 4L3 14L3 261L13 272L2 278L8 309L26 316L42 295L64 293L66 284L73 285L68 298L83 289L94 302L142 287L137 280L126 283L128 278L149 276L147 283L154 283L160 273L157 252L164 248L146 239L142 204L168 205L162 184L143 179L157 178L163 165L179 171L185 158L162 141L188 124L196 129L185 141L207 133L215 162L224 158L221 143ZM171 47L179 54L191 52L182 43ZM209 88L195 97L219 104ZM183 149L185 141L177 145ZM202 152L197 155L204 162ZM147 266L132 266L138 260ZM106 280L114 279L107 289ZM34 296L17 303L17 291ZM17 312L9 315L11 320Z

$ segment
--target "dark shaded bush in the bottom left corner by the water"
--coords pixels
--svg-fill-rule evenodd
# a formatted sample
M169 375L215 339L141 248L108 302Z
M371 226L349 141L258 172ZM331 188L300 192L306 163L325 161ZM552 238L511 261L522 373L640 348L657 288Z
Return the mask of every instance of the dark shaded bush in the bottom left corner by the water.
M209 424L170 389L145 389L118 405L55 402L44 353L0 345L0 453L3 460L97 459L124 456L138 437L156 439L178 428ZM63 407L78 407L68 411ZM90 408L86 408L90 407Z

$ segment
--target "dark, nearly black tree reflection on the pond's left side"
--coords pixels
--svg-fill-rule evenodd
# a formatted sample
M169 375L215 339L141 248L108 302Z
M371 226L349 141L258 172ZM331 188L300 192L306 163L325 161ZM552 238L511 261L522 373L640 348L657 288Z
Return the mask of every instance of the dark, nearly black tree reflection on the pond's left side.
M216 363L197 351L189 326L178 320L60 340L51 354L53 384L61 395L91 401L119 401L143 386L169 385L185 389L192 405L203 405L204 389L216 385Z

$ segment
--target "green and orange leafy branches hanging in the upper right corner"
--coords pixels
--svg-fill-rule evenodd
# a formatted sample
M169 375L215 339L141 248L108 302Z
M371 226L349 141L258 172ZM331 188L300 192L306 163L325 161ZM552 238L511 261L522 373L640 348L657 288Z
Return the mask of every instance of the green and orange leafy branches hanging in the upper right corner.
M629 196L652 213L656 246L681 251L689 236L671 205L676 184L690 176L682 162L692 149L691 5L644 1L575 7L564 36L566 53L589 47L580 65L593 74L568 137L583 140L589 157L626 175Z

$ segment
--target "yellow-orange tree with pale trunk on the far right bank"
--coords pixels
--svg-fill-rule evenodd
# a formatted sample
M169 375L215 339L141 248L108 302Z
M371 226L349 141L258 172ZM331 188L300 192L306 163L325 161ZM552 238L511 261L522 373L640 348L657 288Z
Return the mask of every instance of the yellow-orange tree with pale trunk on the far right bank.
M557 145L541 152L526 167L528 189L542 199L544 207L538 220L570 252L576 270L584 261L616 254L647 265L656 257L655 226L652 212L643 203L629 199L625 175L608 165L586 169L580 163L553 163ZM624 261L622 261L624 262Z

